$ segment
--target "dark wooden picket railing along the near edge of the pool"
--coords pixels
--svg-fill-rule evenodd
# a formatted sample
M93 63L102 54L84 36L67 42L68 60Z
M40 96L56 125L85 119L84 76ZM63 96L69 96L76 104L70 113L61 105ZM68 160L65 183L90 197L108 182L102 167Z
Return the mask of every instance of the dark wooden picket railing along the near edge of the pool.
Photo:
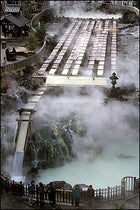
M1 175L1 186L3 189L6 190L6 192L12 192L13 195L16 196L24 196L28 197L28 186L25 185L22 182L15 182L14 180L7 179L3 175ZM124 177L121 182L121 186L115 186L115 187L108 187L105 189L95 189L94 194L94 200L95 201L111 201L111 200L117 200L120 198L125 199L125 196L127 195L127 192L131 192L131 196L135 194L136 189L138 186L136 186L136 181L139 179L136 179L136 177ZM130 184L131 183L131 184ZM131 185L131 187L130 187ZM38 202L38 185L36 185L36 192L34 194L34 199L36 202ZM129 194L130 196L130 194ZM48 194L44 193L44 200L48 201ZM87 201L87 191L82 191L82 202ZM64 189L56 189L56 202L62 202L62 203L71 203L73 204L73 196L72 196L72 189L71 190L64 190Z

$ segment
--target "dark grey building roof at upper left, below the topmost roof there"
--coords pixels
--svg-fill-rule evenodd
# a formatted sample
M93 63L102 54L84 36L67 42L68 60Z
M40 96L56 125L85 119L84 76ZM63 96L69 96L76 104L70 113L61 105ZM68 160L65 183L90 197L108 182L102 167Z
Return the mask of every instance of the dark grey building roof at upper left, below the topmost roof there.
M12 22L14 25L18 26L18 27L22 27L24 26L25 24L29 23L30 21L25 18L24 16L19 16L19 17L15 17L14 15L12 14L9 14L9 15L6 15L4 17L4 19Z

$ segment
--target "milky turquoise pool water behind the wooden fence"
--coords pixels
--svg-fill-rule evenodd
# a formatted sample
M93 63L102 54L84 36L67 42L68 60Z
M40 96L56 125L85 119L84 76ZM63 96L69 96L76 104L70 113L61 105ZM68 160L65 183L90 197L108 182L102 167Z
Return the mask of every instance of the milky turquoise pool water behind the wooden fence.
M115 152L104 151L95 161L75 160L55 169L40 170L36 182L66 181L71 185L92 184L95 189L121 184L124 176L139 177L138 144L123 145ZM126 153L135 158L118 158L116 154Z

